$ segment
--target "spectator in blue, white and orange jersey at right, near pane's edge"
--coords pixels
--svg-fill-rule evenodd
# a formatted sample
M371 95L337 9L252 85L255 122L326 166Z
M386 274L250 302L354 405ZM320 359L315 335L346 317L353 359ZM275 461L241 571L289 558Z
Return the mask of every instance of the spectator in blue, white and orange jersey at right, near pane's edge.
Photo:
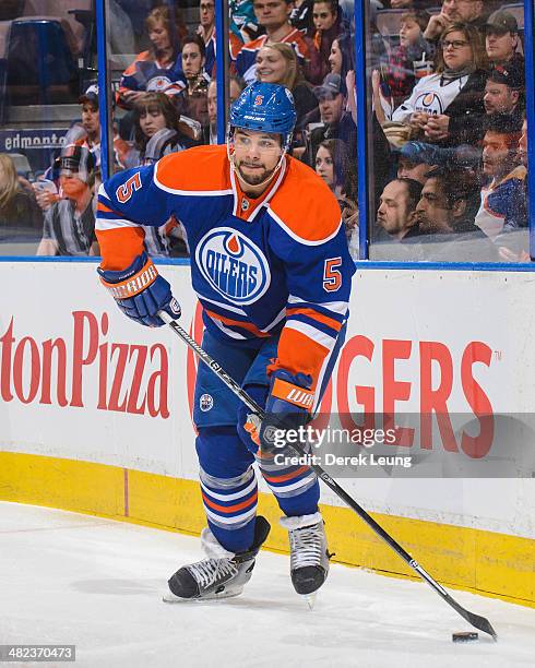
M483 140L483 172L487 184L475 223L490 237L527 225L525 205L526 169L520 164L522 120L492 114L486 119Z

